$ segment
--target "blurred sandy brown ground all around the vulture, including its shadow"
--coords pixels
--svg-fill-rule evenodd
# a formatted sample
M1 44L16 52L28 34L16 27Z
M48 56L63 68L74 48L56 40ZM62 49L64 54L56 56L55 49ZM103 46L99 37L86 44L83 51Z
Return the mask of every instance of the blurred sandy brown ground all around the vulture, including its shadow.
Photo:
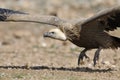
M65 19L89 17L100 9L117 4L117 0L104 3L99 0L96 5L93 2L90 4L88 0L85 0L86 3L83 0L79 3L77 0L51 0L52 7L48 4L50 1L42 7L36 7L44 0L11 1L15 6L4 0L1 0L0 4L6 4L2 6L5 8L33 13L36 11ZM37 11L39 8L43 9ZM78 66L78 55L83 48L69 41L44 38L43 33L51 28L55 27L35 23L0 22L0 80L120 80L120 49L102 50L96 67L93 67L92 62L95 50L90 50L87 52L90 61ZM120 29L111 34L120 36Z

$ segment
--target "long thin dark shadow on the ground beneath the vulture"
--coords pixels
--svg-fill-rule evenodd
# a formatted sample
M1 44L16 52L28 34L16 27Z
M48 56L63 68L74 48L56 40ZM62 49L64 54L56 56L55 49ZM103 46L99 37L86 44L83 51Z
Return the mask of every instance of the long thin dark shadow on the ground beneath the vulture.
M0 66L1 69L31 69L31 70L60 70L60 71L74 71L74 72L109 72L112 69L91 69L88 67L76 67L76 68L66 68L66 67L49 67L49 66Z

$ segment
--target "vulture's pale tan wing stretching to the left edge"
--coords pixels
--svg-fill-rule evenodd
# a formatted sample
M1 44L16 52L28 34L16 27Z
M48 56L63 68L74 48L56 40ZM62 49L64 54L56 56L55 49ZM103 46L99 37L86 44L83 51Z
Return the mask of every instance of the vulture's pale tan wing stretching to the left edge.
M27 14L20 11L0 8L0 21L4 22L34 22L54 26L60 26L64 21L56 16L40 16Z

